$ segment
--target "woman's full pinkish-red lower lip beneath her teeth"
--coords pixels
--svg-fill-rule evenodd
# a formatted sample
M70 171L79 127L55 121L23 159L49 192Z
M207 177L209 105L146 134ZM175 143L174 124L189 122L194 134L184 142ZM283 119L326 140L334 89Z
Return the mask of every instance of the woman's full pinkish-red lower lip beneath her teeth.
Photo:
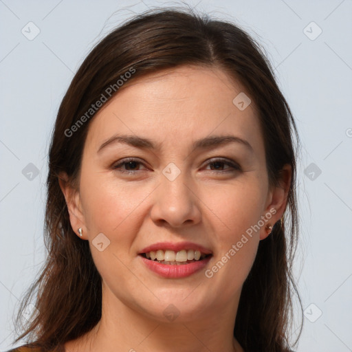
M199 272L199 270L203 269L203 267L209 263L212 256L207 256L201 261L194 261L192 263L180 265L162 264L157 261L146 259L144 256L139 257L142 259L143 263L146 265L146 267L148 267L148 269L150 269L152 272L156 272L164 278L185 278L186 276L195 274L195 272Z

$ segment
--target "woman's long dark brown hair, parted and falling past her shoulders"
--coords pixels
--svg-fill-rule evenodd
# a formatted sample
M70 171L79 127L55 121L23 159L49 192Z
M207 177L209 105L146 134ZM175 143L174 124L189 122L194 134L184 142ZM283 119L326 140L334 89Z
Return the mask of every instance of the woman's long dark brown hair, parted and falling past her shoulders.
M292 166L285 210L288 220L278 221L272 234L260 241L254 265L243 284L234 328L234 336L246 352L289 351L293 294L300 304L292 277L298 239L299 145L292 113L270 63L254 39L228 21L173 8L139 14L113 30L94 47L69 85L50 145L45 214L47 258L23 298L17 326L21 325L22 313L29 303L34 303L38 310L28 325L21 325L24 331L15 342L27 337L29 347L56 349L83 336L100 320L101 277L88 241L78 239L72 230L58 175L65 171L72 181L77 180L87 129L95 114L87 115L87 111L91 104L101 100L108 87L115 85L111 96L104 94L107 100L118 94L116 83L131 68L134 72L129 75L129 83L179 65L219 67L238 80L258 110L270 184L279 184L284 164ZM74 125L76 129L71 135L67 131L72 131Z

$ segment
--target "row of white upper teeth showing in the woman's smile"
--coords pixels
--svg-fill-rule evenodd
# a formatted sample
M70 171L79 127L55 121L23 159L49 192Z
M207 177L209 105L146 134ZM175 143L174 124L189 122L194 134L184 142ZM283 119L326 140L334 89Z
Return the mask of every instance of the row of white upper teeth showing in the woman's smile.
M186 261L199 261L203 259L206 254L201 253L199 250L180 250L175 252L173 250L157 250L146 253L146 258L152 261L165 261L170 265L175 265L175 263L182 263Z

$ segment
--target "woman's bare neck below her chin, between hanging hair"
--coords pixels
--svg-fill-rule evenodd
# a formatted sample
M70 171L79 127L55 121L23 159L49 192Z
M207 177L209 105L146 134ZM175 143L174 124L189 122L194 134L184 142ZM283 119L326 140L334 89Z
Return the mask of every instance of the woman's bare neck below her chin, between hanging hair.
M138 309L132 309L104 288L102 318L82 338L67 342L65 352L243 352L234 339L234 320L239 297L234 302L222 303L212 311L190 314L197 318L175 320L151 319Z

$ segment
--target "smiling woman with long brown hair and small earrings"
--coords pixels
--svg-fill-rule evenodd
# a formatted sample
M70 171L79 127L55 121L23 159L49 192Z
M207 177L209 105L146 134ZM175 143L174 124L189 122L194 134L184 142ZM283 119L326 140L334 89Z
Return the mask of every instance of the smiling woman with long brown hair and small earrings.
M296 135L236 25L164 9L113 30L58 111L14 351L290 351Z

